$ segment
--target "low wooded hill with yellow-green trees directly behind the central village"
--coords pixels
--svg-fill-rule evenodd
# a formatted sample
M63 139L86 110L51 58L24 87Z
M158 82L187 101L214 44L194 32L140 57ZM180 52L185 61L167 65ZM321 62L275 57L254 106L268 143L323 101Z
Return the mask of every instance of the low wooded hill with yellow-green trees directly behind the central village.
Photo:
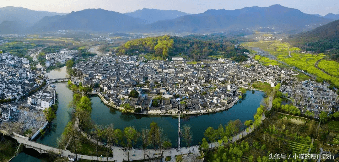
M248 52L248 49L235 47L231 42L216 43L168 35L131 40L116 49L118 55L145 53L162 59L179 55L195 60L218 56L231 58L237 62L246 61L247 56L243 54L244 52Z

